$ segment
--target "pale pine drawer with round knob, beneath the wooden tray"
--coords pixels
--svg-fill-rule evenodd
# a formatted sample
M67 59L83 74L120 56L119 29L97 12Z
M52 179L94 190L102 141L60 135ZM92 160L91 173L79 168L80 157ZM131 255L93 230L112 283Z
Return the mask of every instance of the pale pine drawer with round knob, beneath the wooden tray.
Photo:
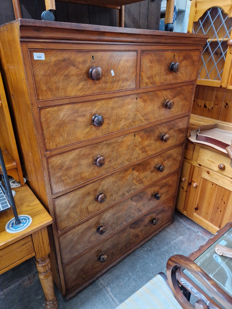
M216 150L200 147L197 163L200 166L211 168L214 171L232 177L230 157Z

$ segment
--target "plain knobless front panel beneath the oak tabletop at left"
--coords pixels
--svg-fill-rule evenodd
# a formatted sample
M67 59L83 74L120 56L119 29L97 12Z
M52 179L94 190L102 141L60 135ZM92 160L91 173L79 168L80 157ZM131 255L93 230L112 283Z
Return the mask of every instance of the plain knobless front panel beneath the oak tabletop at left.
M34 246L31 235L0 250L0 273L19 265L34 256Z

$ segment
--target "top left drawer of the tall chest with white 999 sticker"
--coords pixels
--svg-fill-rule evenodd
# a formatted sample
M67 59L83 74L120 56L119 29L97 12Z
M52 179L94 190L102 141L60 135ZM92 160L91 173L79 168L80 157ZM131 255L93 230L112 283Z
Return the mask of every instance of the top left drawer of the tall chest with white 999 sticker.
M44 53L45 60L33 53ZM37 100L135 89L137 51L33 49L30 60ZM93 66L101 67L100 80L89 77Z

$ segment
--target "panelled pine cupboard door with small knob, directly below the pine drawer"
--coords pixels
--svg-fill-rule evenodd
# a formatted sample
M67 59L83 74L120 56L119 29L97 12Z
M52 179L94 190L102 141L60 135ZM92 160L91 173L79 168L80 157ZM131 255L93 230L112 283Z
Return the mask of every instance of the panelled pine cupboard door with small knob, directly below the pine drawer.
M232 180L195 166L187 216L215 234L232 220Z

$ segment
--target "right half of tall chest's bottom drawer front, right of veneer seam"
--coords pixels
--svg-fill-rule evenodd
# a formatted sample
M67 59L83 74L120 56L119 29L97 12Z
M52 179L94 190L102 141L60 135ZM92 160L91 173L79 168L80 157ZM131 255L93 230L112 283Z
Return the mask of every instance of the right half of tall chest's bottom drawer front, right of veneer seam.
M138 242L144 236L157 230L163 223L171 219L174 212L174 200L174 198L170 199L131 223L131 242Z

